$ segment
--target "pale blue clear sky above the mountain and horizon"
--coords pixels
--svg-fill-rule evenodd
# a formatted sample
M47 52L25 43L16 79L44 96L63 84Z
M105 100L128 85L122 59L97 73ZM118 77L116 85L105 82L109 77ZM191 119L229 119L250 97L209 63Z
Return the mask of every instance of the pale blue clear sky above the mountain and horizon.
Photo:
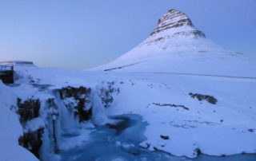
M170 9L218 45L256 54L256 0L0 0L0 61L102 65L143 41Z

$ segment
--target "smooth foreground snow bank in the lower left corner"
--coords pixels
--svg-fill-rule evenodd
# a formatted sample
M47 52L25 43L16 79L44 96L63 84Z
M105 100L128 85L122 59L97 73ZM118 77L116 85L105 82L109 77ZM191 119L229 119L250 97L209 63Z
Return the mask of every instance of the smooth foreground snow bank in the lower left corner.
M0 160L38 160L25 148L18 145L18 137L22 135L22 126L18 116L10 111L16 98L11 88L0 81Z

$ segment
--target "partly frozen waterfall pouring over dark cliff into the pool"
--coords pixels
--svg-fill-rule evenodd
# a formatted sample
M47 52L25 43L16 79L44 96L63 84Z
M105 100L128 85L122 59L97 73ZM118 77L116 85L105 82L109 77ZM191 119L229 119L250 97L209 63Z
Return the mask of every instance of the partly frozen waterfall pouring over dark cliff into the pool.
M69 94L66 97L60 96L60 89L54 89L48 91L50 97L40 100L40 115L36 118L42 121L42 126L38 127L42 128L42 135L35 139L42 144L35 152L39 153L38 157L43 161L58 160L56 154L66 148L66 137L81 135L82 125L86 121L90 120L96 126L102 126L108 121L106 108L96 89L69 87L66 90ZM32 105L30 108L33 108ZM81 121L79 117L85 120ZM33 135L37 134L32 128L27 130Z

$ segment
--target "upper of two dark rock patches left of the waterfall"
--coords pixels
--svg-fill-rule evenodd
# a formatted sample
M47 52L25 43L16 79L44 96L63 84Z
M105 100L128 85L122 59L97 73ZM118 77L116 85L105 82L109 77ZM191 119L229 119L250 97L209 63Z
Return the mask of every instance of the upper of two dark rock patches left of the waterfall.
M18 110L17 113L20 116L20 122L25 123L28 120L32 120L39 116L40 100L34 100L32 98L25 100L22 103L22 99L17 99Z

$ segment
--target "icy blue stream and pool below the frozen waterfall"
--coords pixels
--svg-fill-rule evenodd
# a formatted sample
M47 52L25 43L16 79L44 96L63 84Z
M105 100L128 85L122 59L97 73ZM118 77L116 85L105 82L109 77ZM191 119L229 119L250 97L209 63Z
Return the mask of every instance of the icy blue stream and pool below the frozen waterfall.
M121 161L121 160L170 160L170 161L255 161L256 155L231 155L225 157L199 155L196 159L176 157L163 151L149 151L138 144L146 140L143 132L146 122L142 116L129 114L111 116L115 124L96 127L90 139L82 146L60 151L61 161Z

